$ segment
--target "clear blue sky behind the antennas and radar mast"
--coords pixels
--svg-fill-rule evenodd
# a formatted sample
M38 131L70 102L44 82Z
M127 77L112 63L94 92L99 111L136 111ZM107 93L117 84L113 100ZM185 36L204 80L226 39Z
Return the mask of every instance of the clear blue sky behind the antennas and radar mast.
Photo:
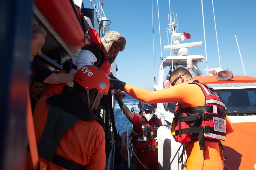
M89 0L83 0L85 8L92 8ZM96 2L92 2L95 4ZM124 51L118 54L117 78L134 86L153 90L154 63L152 39L152 1L103 1L106 17L111 20L110 30L118 31L126 38ZM159 0L159 18L162 41L162 56L165 59L169 50L166 28L168 28L169 1ZM207 45L208 68L218 68L219 58L212 2L203 1L205 33ZM229 69L234 75L244 75L241 59L234 34L237 35L246 75L256 77L254 70L255 59L255 21L256 1L214 1L215 19L218 34L221 68ZM202 41L199 47L188 48L188 55L202 55L205 57L204 31L202 23L202 9L200 0L171 0L171 15L178 15L179 32L188 32L191 39L182 43ZM158 82L159 67L161 64L161 48L157 14L157 1L153 0L154 19L154 49L156 82ZM176 18L175 18L176 20ZM169 37L170 39L170 37ZM198 64L206 75L205 63ZM168 74L169 67L164 69Z

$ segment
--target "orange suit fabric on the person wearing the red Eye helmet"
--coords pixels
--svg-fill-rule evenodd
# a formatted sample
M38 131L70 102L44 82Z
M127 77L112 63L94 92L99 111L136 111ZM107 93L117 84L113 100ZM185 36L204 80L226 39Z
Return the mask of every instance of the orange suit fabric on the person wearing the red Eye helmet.
M37 144L46 125L49 109L46 99L60 94L63 86L64 84L48 86L36 104L33 120ZM66 101L73 102L73 107L79 107L72 100L67 99ZM96 120L79 120L62 137L56 154L75 163L86 165L87 170L105 169L105 133L103 127ZM32 169L30 156L28 156L28 160L27 169ZM46 164L47 169L65 169L41 157L39 157L39 160Z

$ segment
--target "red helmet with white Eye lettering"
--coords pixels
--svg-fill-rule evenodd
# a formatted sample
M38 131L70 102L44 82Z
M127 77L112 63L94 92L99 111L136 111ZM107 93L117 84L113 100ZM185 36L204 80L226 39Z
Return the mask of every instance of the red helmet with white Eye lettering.
M86 90L96 88L99 94L108 94L109 91L108 76L96 66L87 65L81 67L73 81L80 84Z

